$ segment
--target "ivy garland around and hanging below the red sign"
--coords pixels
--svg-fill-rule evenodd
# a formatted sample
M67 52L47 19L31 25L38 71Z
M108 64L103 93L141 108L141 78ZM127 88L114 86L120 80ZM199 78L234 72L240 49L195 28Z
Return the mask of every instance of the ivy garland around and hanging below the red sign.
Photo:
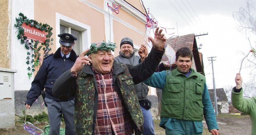
M40 56L40 50L43 47L43 57L45 58L46 56L49 55L49 51L52 49L50 48L50 45L53 45L53 38L50 39L52 36L52 27L50 25L38 23L36 20L28 19L24 14L19 13L19 17L16 18L17 24L14 24L14 27L18 28L18 34L17 37L20 39L20 43L24 44L25 48L29 51L27 51L27 58L26 58L26 63L28 64L28 78L30 79L33 72L35 72L35 67L38 67L40 65L40 62L42 61ZM24 29L22 28L22 24L26 23L26 25L30 25L31 27L35 27L39 30L45 31L46 32L46 40L45 42L39 44L39 41L36 40L28 40L26 36L24 36ZM36 60L36 61L35 61Z

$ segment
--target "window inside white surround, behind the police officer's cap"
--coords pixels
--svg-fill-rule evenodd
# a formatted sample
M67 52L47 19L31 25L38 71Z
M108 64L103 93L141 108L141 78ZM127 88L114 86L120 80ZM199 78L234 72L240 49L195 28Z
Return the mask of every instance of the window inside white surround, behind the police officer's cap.
M65 26L65 25L60 25L60 34L62 33L69 33L71 35L73 35L74 37L77 38L77 40L75 40L75 44L73 45L73 50L76 52L76 54L80 54L83 50L82 50L82 42L81 42L81 37L82 37L82 31L76 30L74 28L72 28L71 26Z

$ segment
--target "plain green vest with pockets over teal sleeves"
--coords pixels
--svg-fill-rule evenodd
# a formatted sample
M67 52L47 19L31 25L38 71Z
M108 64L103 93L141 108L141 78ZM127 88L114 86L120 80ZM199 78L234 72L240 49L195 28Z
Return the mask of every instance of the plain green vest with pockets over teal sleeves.
M186 77L176 68L166 71L166 83L162 91L161 117L203 120L203 101L205 77L191 69Z

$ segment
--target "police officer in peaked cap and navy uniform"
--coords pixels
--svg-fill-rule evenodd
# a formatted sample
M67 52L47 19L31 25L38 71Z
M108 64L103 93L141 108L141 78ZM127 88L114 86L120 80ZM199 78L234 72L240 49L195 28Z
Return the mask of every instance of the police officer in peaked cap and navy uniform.
M44 58L36 77L31 83L25 105L30 108L45 89L44 101L49 115L49 135L59 135L62 114L66 124L65 134L76 135L73 119L74 97L59 100L52 95L52 86L55 80L75 63L77 55L72 47L75 44L74 40L77 40L77 38L69 33L59 34L58 37L60 37L60 47L54 54Z

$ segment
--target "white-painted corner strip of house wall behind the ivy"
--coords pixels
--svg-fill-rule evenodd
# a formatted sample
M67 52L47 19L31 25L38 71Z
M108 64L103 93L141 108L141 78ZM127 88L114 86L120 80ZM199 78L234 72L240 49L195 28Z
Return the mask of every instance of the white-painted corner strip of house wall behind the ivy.
M26 64L27 49L24 44L20 43L17 38L17 28L15 18L19 17L19 13L23 13L28 19L34 19L34 0L11 0L11 69L17 70L14 74L14 88L15 90L29 90L33 75L31 79L28 78L28 65Z

